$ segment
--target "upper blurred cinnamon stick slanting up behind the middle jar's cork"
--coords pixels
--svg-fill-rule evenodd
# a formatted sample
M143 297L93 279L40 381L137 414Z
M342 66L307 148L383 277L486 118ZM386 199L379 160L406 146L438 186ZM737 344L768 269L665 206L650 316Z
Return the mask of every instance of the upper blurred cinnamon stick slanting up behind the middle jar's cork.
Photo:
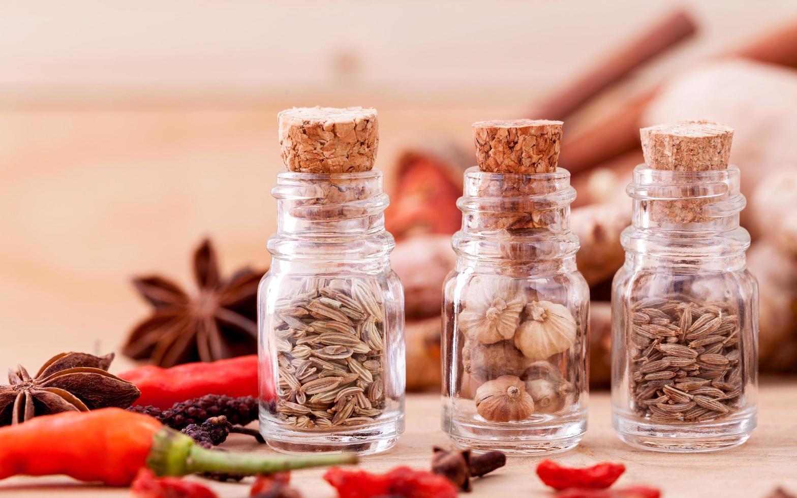
M529 116L563 120L611 84L622 80L634 69L692 36L696 31L697 25L689 14L684 10L674 11L578 80L548 97L542 104L533 108Z

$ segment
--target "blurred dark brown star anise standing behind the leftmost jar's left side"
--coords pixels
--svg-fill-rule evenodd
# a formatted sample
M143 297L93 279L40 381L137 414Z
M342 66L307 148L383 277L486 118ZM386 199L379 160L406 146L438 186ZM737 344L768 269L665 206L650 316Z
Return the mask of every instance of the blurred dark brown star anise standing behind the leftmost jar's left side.
M248 355L257 349L257 284L263 272L245 268L219 276L209 240L194 253L198 291L189 295L171 280L133 280L155 309L128 336L124 354L161 367Z

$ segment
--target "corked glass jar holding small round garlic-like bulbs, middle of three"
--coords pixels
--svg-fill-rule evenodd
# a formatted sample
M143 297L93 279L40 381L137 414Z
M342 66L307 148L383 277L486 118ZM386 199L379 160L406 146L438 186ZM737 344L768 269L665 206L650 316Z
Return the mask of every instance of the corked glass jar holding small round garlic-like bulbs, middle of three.
M570 449L587 429L589 288L556 167L562 123L473 125L456 268L443 286L442 427L476 450Z

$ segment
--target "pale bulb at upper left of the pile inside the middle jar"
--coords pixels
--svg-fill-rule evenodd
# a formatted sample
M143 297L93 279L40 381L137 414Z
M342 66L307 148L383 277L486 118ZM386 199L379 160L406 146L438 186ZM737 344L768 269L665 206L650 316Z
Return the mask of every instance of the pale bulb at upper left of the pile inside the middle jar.
M461 331L482 344L512 339L520 324L524 301L506 285L472 282L458 324Z

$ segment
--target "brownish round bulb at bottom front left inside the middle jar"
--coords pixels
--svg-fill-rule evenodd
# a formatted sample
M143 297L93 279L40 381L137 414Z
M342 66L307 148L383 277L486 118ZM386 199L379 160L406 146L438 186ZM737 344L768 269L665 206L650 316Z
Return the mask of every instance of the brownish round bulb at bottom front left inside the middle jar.
M534 400L514 375L485 382L476 390L476 411L491 422L525 420L534 413Z

